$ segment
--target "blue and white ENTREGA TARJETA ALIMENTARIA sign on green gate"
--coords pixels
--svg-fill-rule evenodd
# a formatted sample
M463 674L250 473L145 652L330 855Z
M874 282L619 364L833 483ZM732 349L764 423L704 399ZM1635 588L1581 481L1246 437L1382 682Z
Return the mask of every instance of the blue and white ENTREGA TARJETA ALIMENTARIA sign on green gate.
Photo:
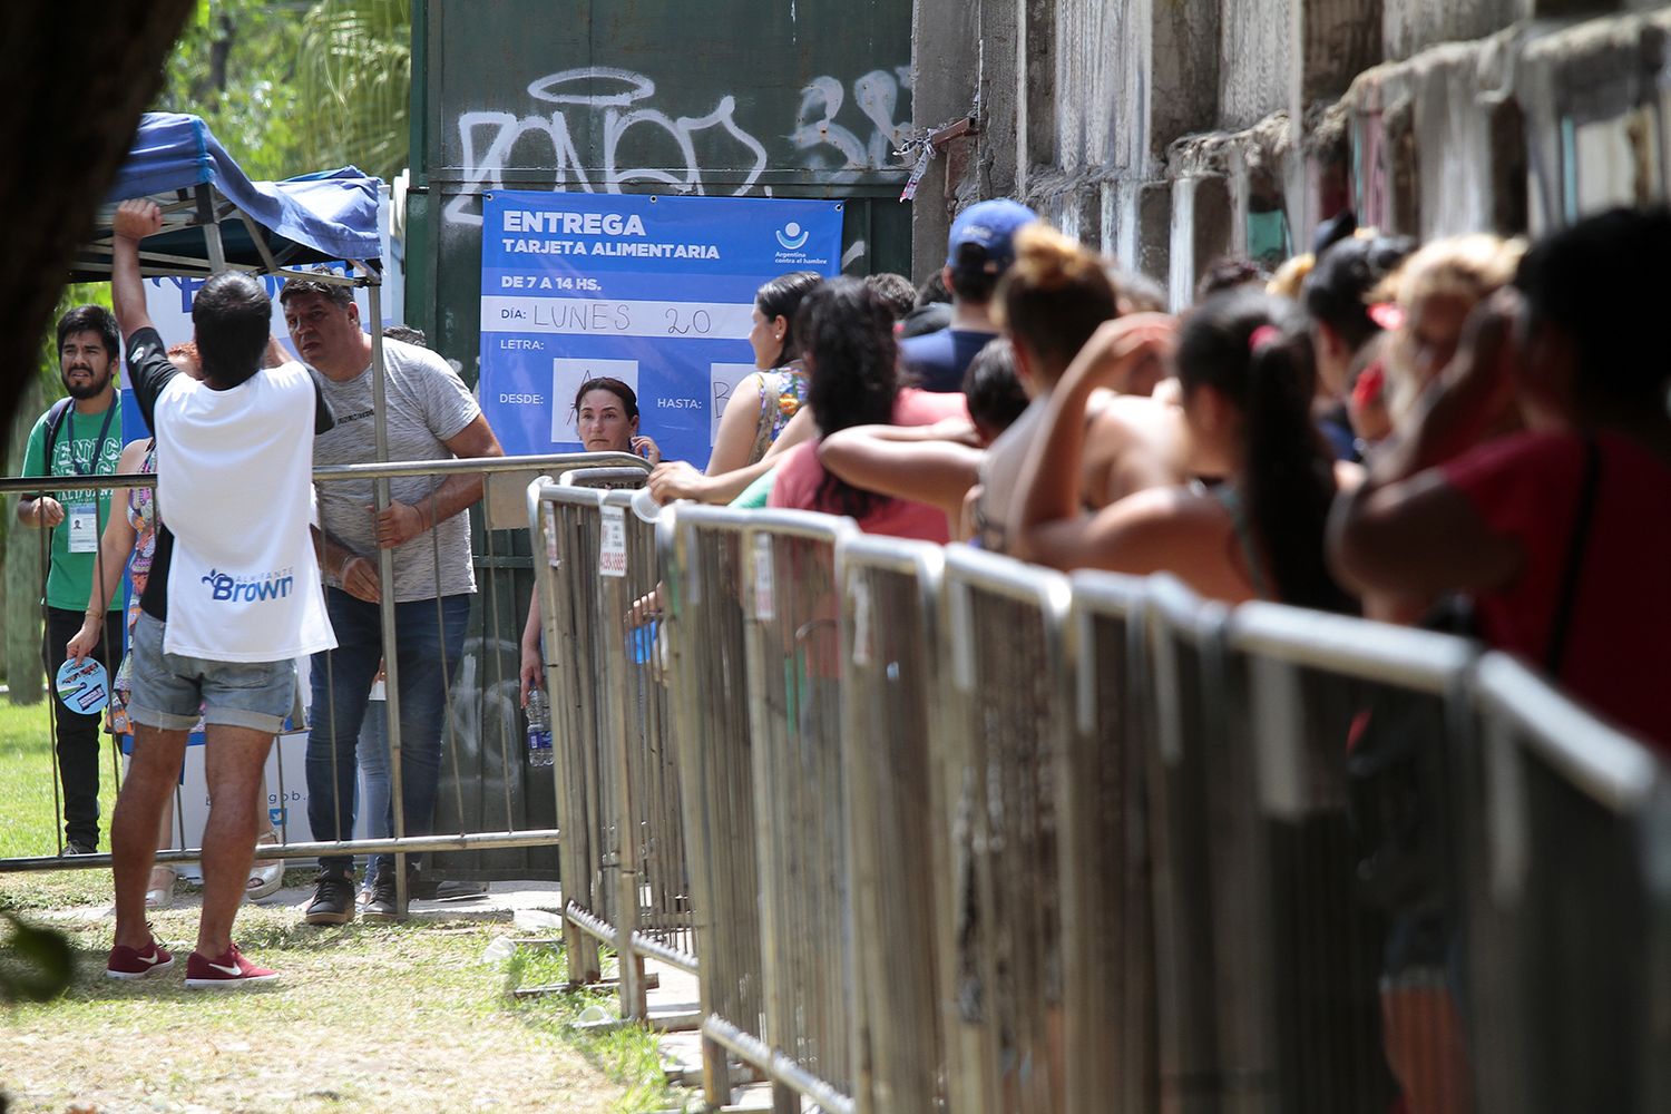
M841 271L842 204L500 192L483 202L481 409L508 454L580 448L575 391L622 379L667 459L707 464L754 371L754 294Z

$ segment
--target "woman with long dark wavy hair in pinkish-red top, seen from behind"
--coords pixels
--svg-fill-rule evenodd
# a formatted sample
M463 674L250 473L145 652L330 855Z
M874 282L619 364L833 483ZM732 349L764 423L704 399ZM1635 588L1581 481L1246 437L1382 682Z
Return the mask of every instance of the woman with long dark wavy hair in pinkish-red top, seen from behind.
M932 426L969 418L961 394L899 386L894 317L881 296L857 279L836 279L807 294L795 314L795 336L810 376L807 403L820 434L849 426ZM824 469L817 446L812 441L784 453L769 506L847 514L872 534L947 541L944 511L849 484Z

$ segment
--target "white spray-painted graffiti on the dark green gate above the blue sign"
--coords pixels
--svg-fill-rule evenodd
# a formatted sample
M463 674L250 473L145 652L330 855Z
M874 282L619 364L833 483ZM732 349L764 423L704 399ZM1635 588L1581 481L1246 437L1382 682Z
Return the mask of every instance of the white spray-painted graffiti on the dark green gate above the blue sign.
M911 72L871 70L849 89L815 77L800 90L799 109L785 105L782 140L807 170L881 170L907 125L896 120ZM458 117L463 190L446 205L455 224L481 224L470 212L481 190L505 189L511 167L541 167L551 189L618 194L627 184L707 194L707 177L724 172L734 195L752 192L770 164L767 145L737 120L737 97L722 95L700 115L672 115L655 97L655 80L607 65L548 73L528 85L530 112L471 110ZM762 115L755 110L754 115ZM583 130L585 129L585 130ZM597 137L597 165L582 155L575 134ZM777 135L774 132L774 135ZM533 144L530 147L528 144ZM513 155L520 155L515 157ZM650 160L658 160L650 165ZM523 182L518 189L526 189Z

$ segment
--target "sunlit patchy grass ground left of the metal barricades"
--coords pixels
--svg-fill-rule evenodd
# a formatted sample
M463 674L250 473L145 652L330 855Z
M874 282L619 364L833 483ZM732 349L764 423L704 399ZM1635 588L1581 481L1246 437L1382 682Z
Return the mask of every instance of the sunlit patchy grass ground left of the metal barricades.
M115 790L102 767L107 828ZM0 857L50 855L47 705L0 698ZM104 850L104 847L102 847ZM304 882L291 872L287 884ZM281 980L242 992L185 990L197 910L182 890L152 927L175 954L142 982L104 977L110 873L0 873L0 907L63 930L77 950L69 992L0 1012L0 1109L12 1111L597 1111L677 1107L655 1039L573 1027L608 995L516 1000L565 977L563 957L483 950L520 935L506 914L312 929L286 905L246 905L236 939ZM3 942L0 942L3 947Z

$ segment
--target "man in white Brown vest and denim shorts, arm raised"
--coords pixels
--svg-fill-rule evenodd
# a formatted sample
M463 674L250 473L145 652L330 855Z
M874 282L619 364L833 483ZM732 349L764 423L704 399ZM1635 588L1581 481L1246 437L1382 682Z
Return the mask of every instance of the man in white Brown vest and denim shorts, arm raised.
M162 229L149 200L115 214L110 291L129 379L157 438L157 551L134 628L134 767L110 823L112 979L174 959L145 924L157 820L202 710L209 820L204 904L185 969L192 989L264 982L232 920L262 815L261 772L296 698L294 658L336 645L309 534L312 438L331 426L301 364L261 367L272 304L244 274L219 274L192 306L202 381L179 374L145 312L139 241Z

